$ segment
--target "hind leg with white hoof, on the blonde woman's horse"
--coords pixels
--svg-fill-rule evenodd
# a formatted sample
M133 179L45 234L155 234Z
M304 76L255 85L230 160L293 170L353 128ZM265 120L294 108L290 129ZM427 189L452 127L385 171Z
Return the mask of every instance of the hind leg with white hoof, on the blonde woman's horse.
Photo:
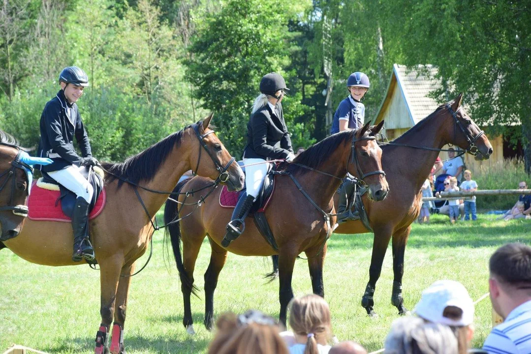
M204 233L203 233L204 235ZM199 238L198 238L199 239ZM192 237L182 237L183 240L183 271L179 271L181 278L181 291L183 292L184 317L183 325L188 334L195 334L194 321L192 318L192 307L190 297L192 293L197 296L197 288L194 287L194 269L197 261L199 250L201 249L202 240Z

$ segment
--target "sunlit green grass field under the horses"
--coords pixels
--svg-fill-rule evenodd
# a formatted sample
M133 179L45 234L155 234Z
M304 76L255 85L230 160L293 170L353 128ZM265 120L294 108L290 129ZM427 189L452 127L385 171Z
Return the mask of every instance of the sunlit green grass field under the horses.
M479 215L475 223L451 227L448 217L433 215L430 225L413 226L406 249L405 305L413 309L421 291L439 279L462 282L474 300L488 291L487 262L494 249L510 241L531 244L529 220L494 221ZM128 353L201 353L212 333L202 325L204 302L192 298L193 337L182 325L182 295L173 258L163 257L162 232L153 243L148 267L132 281L127 312L125 344ZM332 311L333 331L339 340L361 342L369 351L382 348L389 326L397 318L390 304L391 250L376 284L371 319L361 307L369 278L372 234L333 235L324 268L325 298ZM196 265L196 285L203 288L203 274L210 257L205 241ZM144 255L139 264L145 262ZM168 265L169 264L169 265ZM261 309L278 317L278 282L265 284L262 275L270 262L261 257L229 255L221 272L215 298L216 314ZM306 261L295 265L296 295L311 292ZM50 353L93 352L100 323L99 272L87 265L46 267L30 264L8 250L0 251L0 352L12 344ZM491 329L489 299L476 306L474 346L481 346Z

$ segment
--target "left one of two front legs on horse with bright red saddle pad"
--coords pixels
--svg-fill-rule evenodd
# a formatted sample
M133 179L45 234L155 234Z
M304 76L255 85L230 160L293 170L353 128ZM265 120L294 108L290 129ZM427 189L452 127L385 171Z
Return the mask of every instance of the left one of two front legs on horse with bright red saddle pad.
M114 319L116 290L122 270L123 261L120 258L106 258L99 260L100 264L100 315L101 324L96 333L96 354L109 352L107 346L110 324Z

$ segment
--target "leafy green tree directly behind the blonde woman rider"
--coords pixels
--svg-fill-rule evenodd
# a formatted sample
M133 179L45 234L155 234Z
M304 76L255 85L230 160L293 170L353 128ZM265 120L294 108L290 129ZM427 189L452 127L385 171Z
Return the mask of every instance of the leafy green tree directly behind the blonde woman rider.
M288 21L296 18L295 9L278 0L229 0L219 12L207 13L196 23L188 75L195 97L215 112L220 135L236 156L245 144L246 123L261 77L275 71L289 81L289 73L282 69L290 62ZM302 107L290 107L299 103L297 99L283 102L286 117L292 109L302 113Z

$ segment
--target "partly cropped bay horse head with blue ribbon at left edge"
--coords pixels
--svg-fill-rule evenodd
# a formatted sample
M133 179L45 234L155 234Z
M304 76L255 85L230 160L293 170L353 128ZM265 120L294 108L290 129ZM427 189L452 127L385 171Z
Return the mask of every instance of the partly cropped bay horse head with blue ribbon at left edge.
M30 180L20 164L18 146L0 142L0 240L19 235L28 215Z

